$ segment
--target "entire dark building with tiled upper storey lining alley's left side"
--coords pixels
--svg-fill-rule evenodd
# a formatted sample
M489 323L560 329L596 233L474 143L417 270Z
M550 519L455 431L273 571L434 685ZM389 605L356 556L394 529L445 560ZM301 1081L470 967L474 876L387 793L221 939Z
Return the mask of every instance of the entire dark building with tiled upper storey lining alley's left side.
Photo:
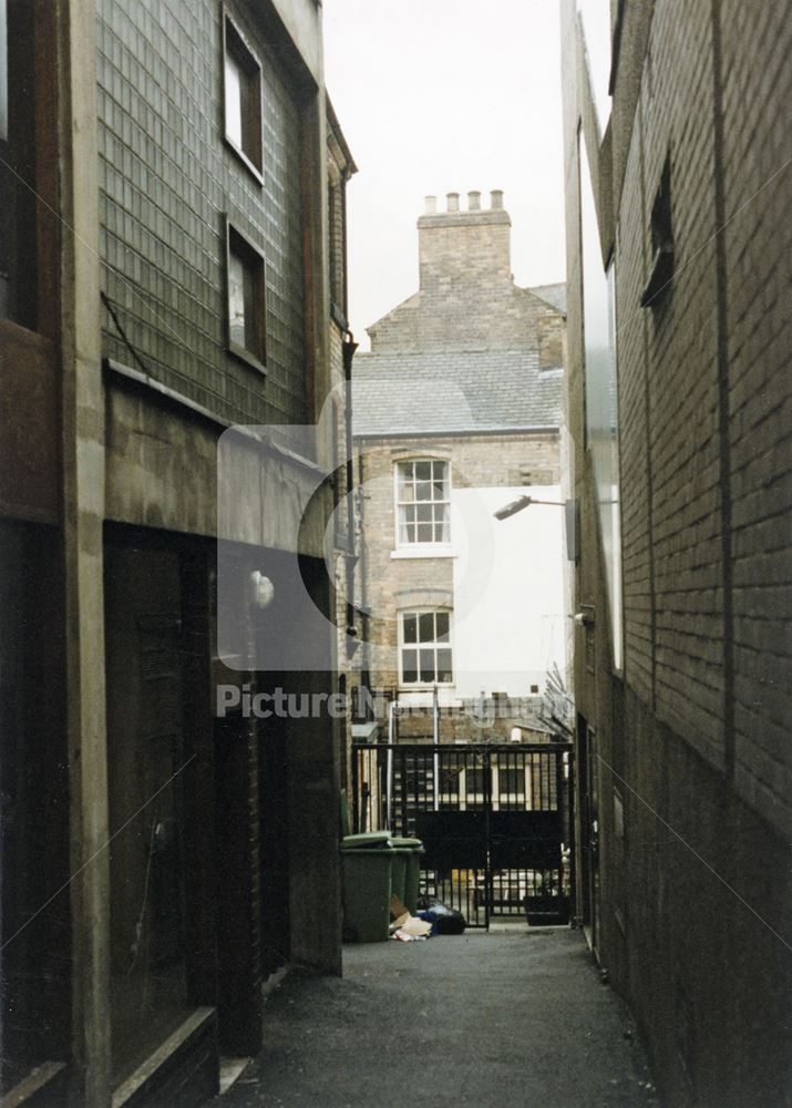
M315 0L2 0L0 24L2 1094L192 1106L259 1049L277 965L340 970L339 722L217 686L337 688L342 407L312 428L354 164ZM298 555L326 664L255 673L260 638L299 646Z

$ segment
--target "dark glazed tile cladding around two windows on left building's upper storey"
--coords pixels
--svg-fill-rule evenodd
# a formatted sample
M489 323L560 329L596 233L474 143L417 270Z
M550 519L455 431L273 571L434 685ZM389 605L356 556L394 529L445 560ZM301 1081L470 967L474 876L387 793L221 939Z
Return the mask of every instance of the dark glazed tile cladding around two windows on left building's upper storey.
M244 3L261 63L261 187L224 142L222 8L100 0L103 289L148 373L232 422L304 422L300 116ZM267 377L226 352L225 214L264 252ZM140 368L104 314L104 352Z

